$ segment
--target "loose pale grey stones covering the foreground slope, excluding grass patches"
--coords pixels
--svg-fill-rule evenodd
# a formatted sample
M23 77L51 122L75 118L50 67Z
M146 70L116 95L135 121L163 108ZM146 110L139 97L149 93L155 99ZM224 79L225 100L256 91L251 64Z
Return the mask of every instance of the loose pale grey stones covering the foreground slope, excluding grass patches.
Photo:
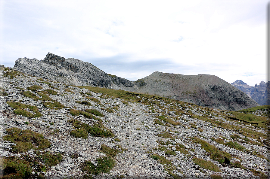
M117 149L116 145L123 147L124 152L115 156L116 165L109 173L101 173L99 175L91 175L94 178L119 178L122 175L123 178L170 178L172 175L168 173L165 165L161 164L158 160L151 158L153 154L164 156L171 161L172 165L176 167L172 171L176 177L180 178L211 178L213 174L220 175L223 178L242 178L242 179L258 179L259 176L253 175L254 173L250 169L260 171L263 174L268 174L269 162L265 158L269 155L266 147L259 145L252 145L241 142L240 139L233 139L230 136L233 134L239 135L244 138L243 135L232 129L222 129L218 126L213 126L211 123L191 118L187 114L176 114L174 111L168 110L170 104L160 101L160 105L149 106L147 104L130 102L124 104L123 99L110 98L109 96L102 95L101 93L94 93L85 88L78 88L74 86L68 86L61 83L54 83L48 81L51 84L42 83L44 81L38 80L37 77L29 76L25 74L11 78L3 76L4 71L1 71L1 87L2 91L8 94L8 96L0 96L0 108L1 108L1 136L7 135L6 129L11 127L17 127L20 129L31 129L35 132L42 133L46 139L51 142L51 147L40 150L41 152L46 150L51 153L62 153L63 160L52 167L47 167L47 171L42 174L46 178L82 178L85 172L82 171L80 165L85 161L93 161L97 163L98 157L104 157L106 154L100 152L101 144L105 144L108 147ZM45 80L45 82L47 82ZM63 109L51 109L44 105L41 100L34 101L31 98L25 97L20 93L27 90L26 87L32 85L42 86L43 89L53 89L53 86L57 95L49 95L49 97L57 102L60 102L68 108ZM17 89L15 87L21 87L23 89ZM69 89L70 92L65 89ZM32 91L31 91L32 92ZM85 93L91 93L93 98L100 100L99 102L93 102L88 100ZM37 95L38 96L38 95ZM86 106L76 103L76 101L86 100L91 103L92 106ZM32 106L37 106L42 117L29 118L21 115L14 114L14 109L11 108L7 102L21 102ZM185 111L192 111L193 114L201 115L206 113L206 108L194 108L189 104L177 104L179 108L185 107ZM150 109L152 107L152 109ZM87 108L96 109L104 117L99 117L103 124L111 129L114 133L113 138L92 137L88 135L88 138L75 138L70 135L70 131L75 128L68 122L70 119L76 119L83 123L91 124L93 119L83 117L83 115L72 116L69 109L76 108L77 110L85 110ZM111 108L113 113L107 112L101 108ZM215 110L213 110L215 111ZM216 111L220 113L221 111ZM223 111L226 113L226 111ZM173 119L178 119L177 122L180 125L158 125L154 123L157 119L156 116L166 114ZM212 118L216 120L222 120L224 123L228 123L235 126L242 126L254 130L257 132L267 133L264 129L259 129L244 124L228 121L222 117ZM26 122L29 124L26 125ZM52 124L53 123L53 124ZM165 122L163 122L165 124ZM193 128L190 124L197 125L197 129ZM52 124L52 125L51 125ZM56 132L58 129L59 132ZM200 129L200 130L198 130ZM170 138L164 138L157 136L163 131L169 132ZM258 157L256 155L244 153L240 150L228 147L223 144L219 144L211 138L219 138L222 136L225 141L237 141L239 144L249 150L256 150L264 157ZM11 150L11 144L9 141L4 141L1 137L1 157L9 156L22 156L23 154L35 157L34 150L29 150L26 153L14 153ZM237 156L241 159L242 168L235 168L233 165L221 165L219 162L210 159L210 155L206 152L201 144L195 143L192 137L198 137L208 143L214 145L221 151L226 151L232 156ZM119 140L114 140L119 139ZM253 140L253 139L251 139ZM255 140L255 139L254 139ZM169 141L167 144L160 141ZM184 153L175 150L176 144L182 144L185 146ZM166 147L165 151L157 150L158 147ZM166 153L167 150L174 151L175 155ZM71 157L74 154L78 154L78 157ZM201 168L193 162L193 158L197 157L206 161L211 161L216 164L221 172L215 172L209 169ZM236 159L231 157L233 163ZM265 176L267 178L267 176ZM268 178L270 175L268 174Z

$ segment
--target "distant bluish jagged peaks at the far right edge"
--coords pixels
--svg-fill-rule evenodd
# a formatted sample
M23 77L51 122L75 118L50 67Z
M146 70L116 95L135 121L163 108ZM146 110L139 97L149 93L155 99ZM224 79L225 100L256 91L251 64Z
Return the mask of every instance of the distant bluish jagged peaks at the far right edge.
M242 80L236 80L231 85L246 93L260 105L270 105L270 81L267 83L261 81L259 85L256 83L255 86L249 86Z

